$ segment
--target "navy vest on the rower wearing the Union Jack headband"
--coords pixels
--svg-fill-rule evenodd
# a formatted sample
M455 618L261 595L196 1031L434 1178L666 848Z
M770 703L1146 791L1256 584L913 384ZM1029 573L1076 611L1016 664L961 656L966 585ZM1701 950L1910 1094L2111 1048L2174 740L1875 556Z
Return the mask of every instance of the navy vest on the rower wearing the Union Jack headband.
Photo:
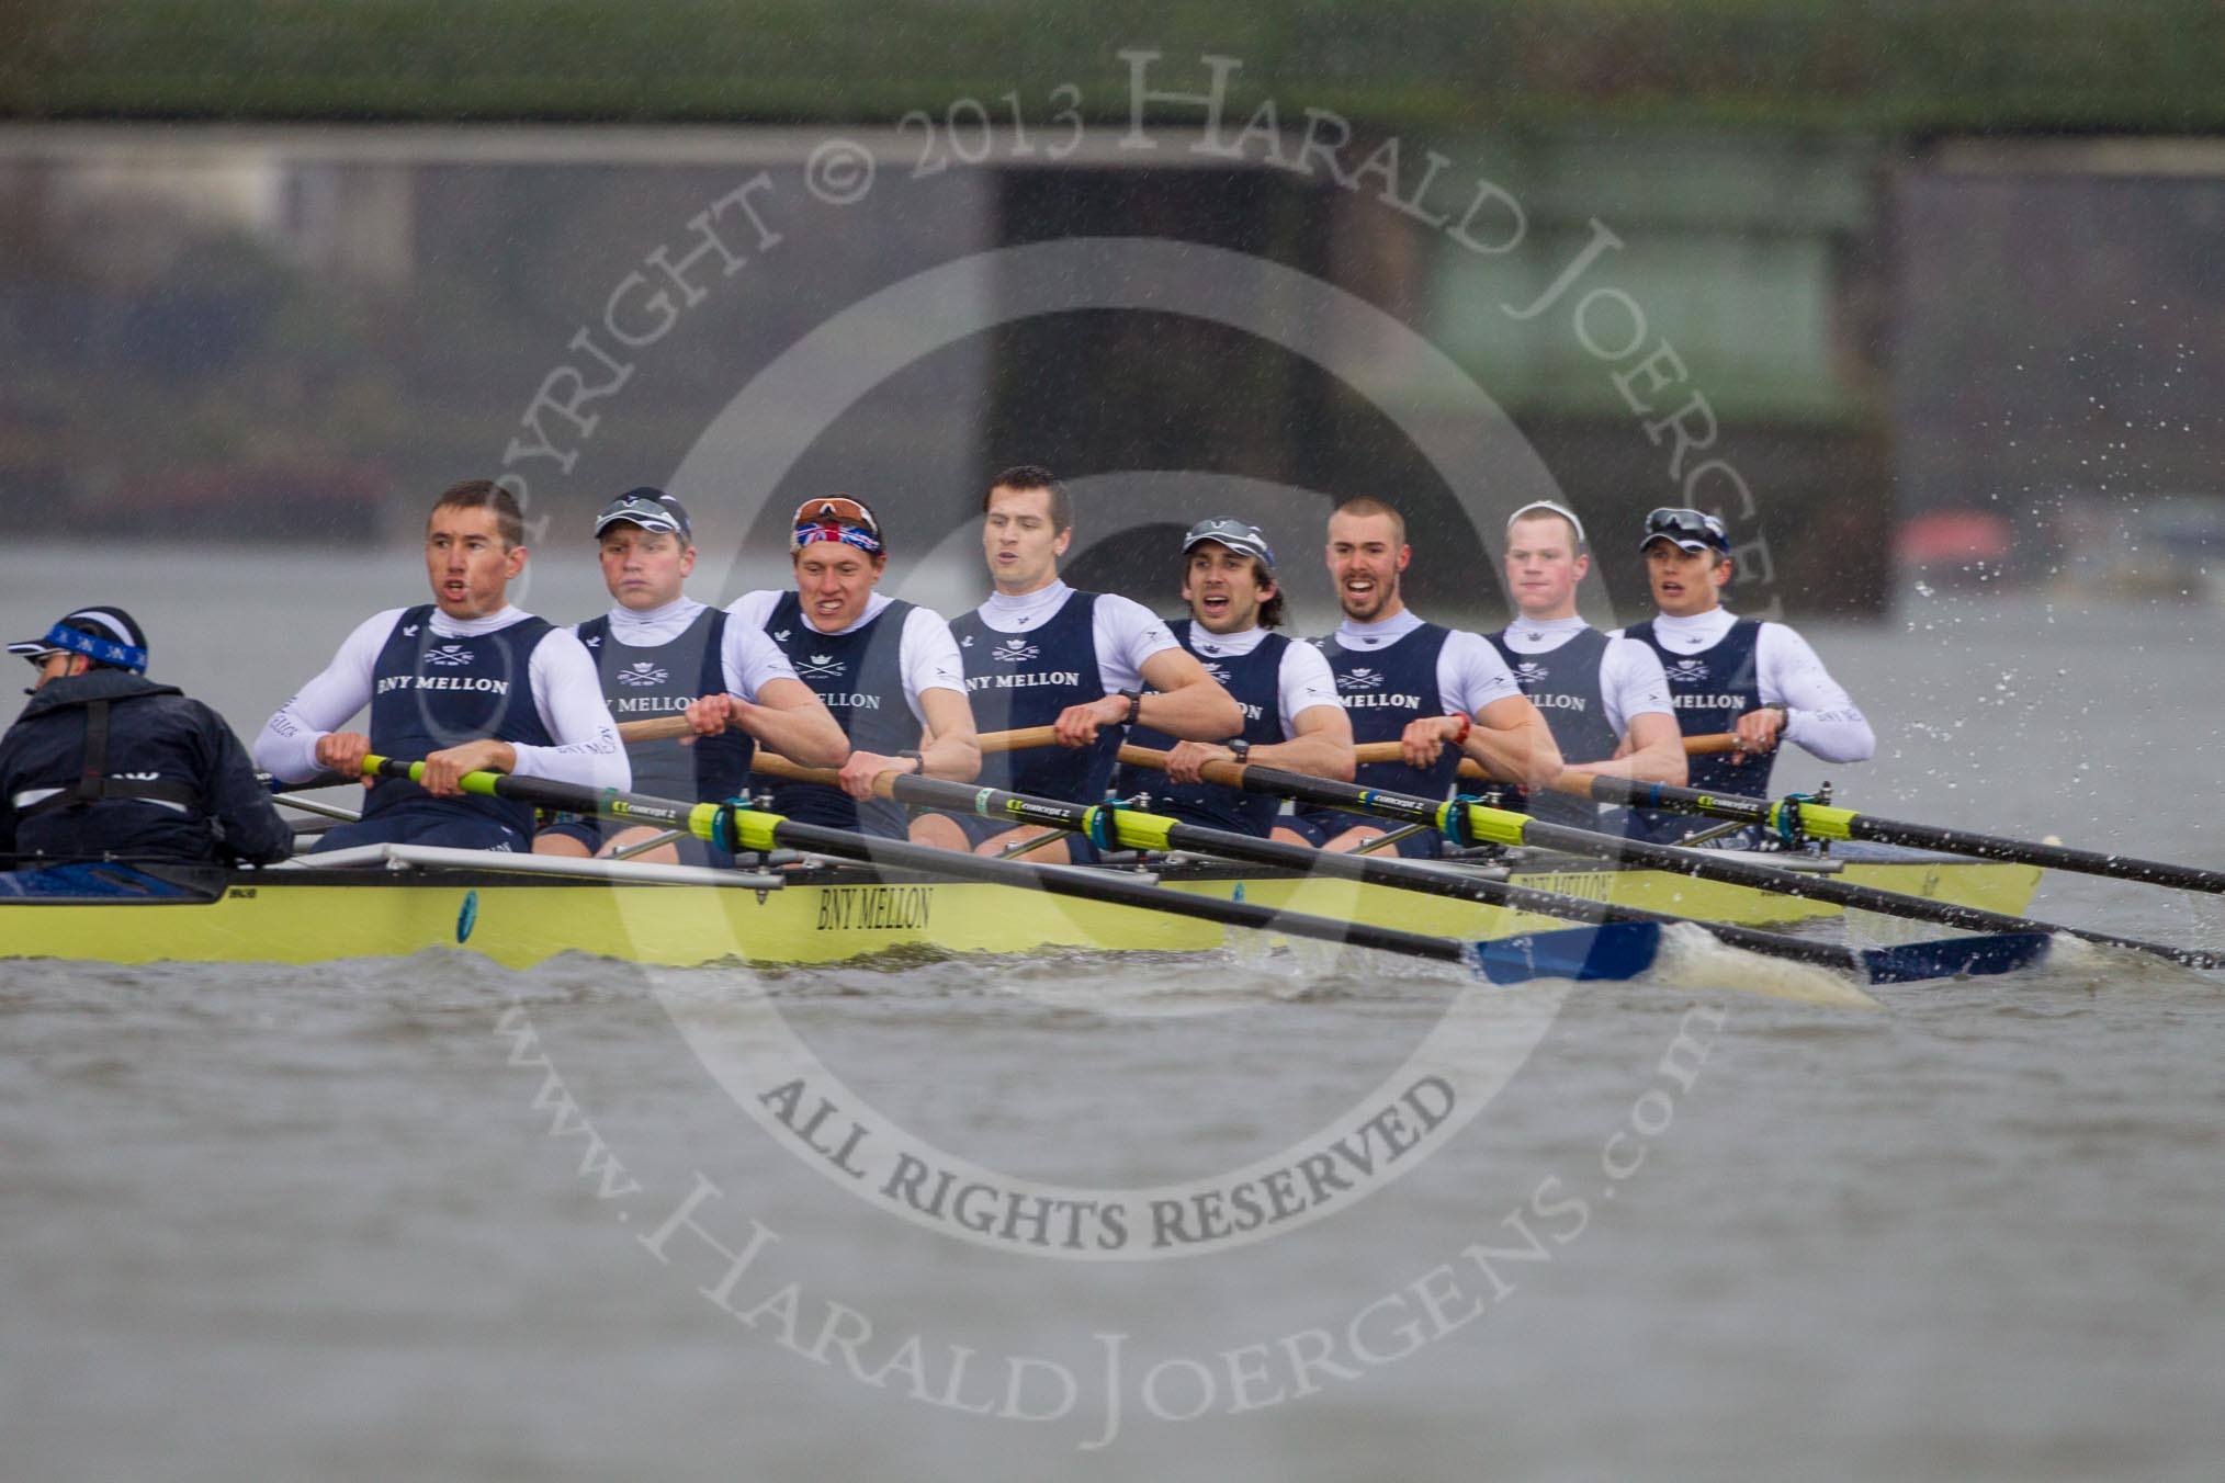
M797 667L841 723L857 752L894 756L919 745L919 718L903 703L903 620L910 603L890 603L848 634L821 634L803 620L803 600L783 591L765 618L765 634ZM881 838L903 838L903 805L890 798L859 803L825 783L777 783L772 812L830 829L863 829Z

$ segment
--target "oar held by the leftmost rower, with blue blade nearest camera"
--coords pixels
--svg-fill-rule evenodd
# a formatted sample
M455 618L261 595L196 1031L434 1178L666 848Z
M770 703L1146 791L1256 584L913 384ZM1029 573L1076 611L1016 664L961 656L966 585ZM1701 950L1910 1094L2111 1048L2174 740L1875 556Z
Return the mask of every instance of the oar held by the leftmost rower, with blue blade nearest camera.
M385 778L409 778L416 783L423 780L425 763L367 756L363 758L363 772ZM1393 927L1371 927L1366 923L1339 923L1326 916L1277 912L1275 907L1262 907L1246 900L1219 900L1217 896L1170 892L1133 876L1115 876L1110 872L1079 865L990 860L986 856L957 854L932 845L868 838L863 834L852 834L850 829L805 825L763 809L739 807L734 803L679 803L674 798L576 787L570 783L552 783L547 778L512 778L496 772L465 774L463 789L469 794L514 798L518 803L534 803L572 814L599 814L619 823L685 829L694 838L710 840L728 849L808 849L814 854L863 860L868 865L897 865L926 876L1017 885L1041 889L1052 896L1075 896L1079 900L1101 900L1121 907L1139 907L1144 912L1190 916L1197 920L1219 923L1224 927L1253 927L1259 932L1279 932L1284 936L1373 947L1377 952L1404 954L1408 958L1457 963L1491 983L1520 983L1524 978L1635 978L1653 965L1653 958L1660 952L1660 927L1653 923L1611 923L1604 927L1533 932L1520 938L1462 943L1422 932L1397 932Z

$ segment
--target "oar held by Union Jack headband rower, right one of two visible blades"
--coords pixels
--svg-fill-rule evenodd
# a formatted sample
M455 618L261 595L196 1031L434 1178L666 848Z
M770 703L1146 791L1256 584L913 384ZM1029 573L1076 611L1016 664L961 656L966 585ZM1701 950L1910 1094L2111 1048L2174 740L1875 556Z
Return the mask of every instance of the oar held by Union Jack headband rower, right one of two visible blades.
M1157 767L1164 758L1164 752L1150 752L1144 747L1121 749L1124 763L1139 763L1144 767ZM770 767L770 772L779 772L788 778L805 783L828 783L834 778L832 772L797 767L783 758L772 758L772 763L774 767ZM1235 772L1235 767L1226 763L1217 763L1215 767ZM1684 916L1669 916L1664 912L1644 912L1640 907L1620 907L1604 900L1586 900L1582 896L1562 896L1560 892L1509 885L1504 880L1484 880L1482 876L1444 869L1442 865L1337 854L1328 849L1308 849L1306 845L1284 845L1279 840L1208 829L1204 825L1190 825L1179 818L1130 807L1061 803L1057 798L1010 794L997 787L975 787L970 783L943 783L941 778L919 778L899 772L883 772L877 776L874 792L919 807L979 814L981 818L997 818L1012 825L1068 829L1086 834L1101 847L1186 849L1202 856L1222 856L1250 865L1273 865L1304 874L1331 876L1337 880L1362 880L1368 885L1386 885L1426 896L1448 896L1453 900L1475 900L1580 923L1642 923L1651 927L1689 923L1713 934L1727 947L1838 969L1853 974L1865 983L1907 983L1918 978L1945 978L1949 974L2005 974L2034 963L2047 947L2045 936L2018 934L2014 938L1940 938L1936 943L1907 943L1900 947L1849 949L1836 943L1813 943L1807 938L1784 936L1780 932L1760 932L1756 927L1738 927L1731 923L1702 923Z

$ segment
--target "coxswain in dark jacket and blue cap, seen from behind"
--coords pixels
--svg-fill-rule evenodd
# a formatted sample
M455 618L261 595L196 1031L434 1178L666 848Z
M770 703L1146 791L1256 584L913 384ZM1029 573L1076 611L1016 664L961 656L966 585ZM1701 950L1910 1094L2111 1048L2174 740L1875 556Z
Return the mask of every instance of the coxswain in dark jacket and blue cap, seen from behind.
M222 716L147 678L120 607L80 607L11 643L38 669L0 736L0 869L60 860L271 865L294 832Z

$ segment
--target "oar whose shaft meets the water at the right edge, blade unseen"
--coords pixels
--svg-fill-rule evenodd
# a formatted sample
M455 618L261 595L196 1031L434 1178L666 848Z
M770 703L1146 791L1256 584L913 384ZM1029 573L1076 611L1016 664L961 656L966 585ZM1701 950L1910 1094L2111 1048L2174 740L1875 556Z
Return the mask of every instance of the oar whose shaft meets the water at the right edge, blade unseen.
M1121 747L1121 760L1130 760L1130 752L1137 754L1135 760L1150 756L1141 747ZM1951 900L1927 900L1922 896L1905 896L1900 892L1880 892L1871 885L1849 885L1845 880L1778 869L1776 865L1733 860L1711 849L1680 849L1675 845L1649 845L1644 840L1593 834L1591 829L1571 829L1566 825L1551 825L1540 818L1531 818L1529 814L1493 809L1480 803L1462 803L1457 798L1415 798L1411 794L1353 787L1351 783L1331 783L1326 778L1311 778L1299 772L1282 772L1275 767L1239 769L1228 763L1208 763L1206 767L1219 769L1208 774L1215 783L1228 783L1230 787L1242 787L1255 794L1279 794L1284 798L1297 798L1299 803L1315 803L1333 809L1351 809L1355 814L1371 814L1377 818L1397 818L1400 823L1426 823L1462 843L1533 845L1540 849L1560 849L1602 860L1626 860L1631 865L1667 869L1700 880L1747 885L1778 896L1827 900L1840 907L1856 907L1885 916L1907 916L1911 920L1938 923L1942 927L1967 927L1971 932L2063 932L2085 938L2087 943L2129 947L2132 952L2169 958L2183 967L2225 967L2225 958L2196 947L2172 947L2167 943L2149 943L2145 938L2129 938L2116 932L2058 927L2029 916L2007 916L2002 912L1985 912L1980 907L1965 907Z

